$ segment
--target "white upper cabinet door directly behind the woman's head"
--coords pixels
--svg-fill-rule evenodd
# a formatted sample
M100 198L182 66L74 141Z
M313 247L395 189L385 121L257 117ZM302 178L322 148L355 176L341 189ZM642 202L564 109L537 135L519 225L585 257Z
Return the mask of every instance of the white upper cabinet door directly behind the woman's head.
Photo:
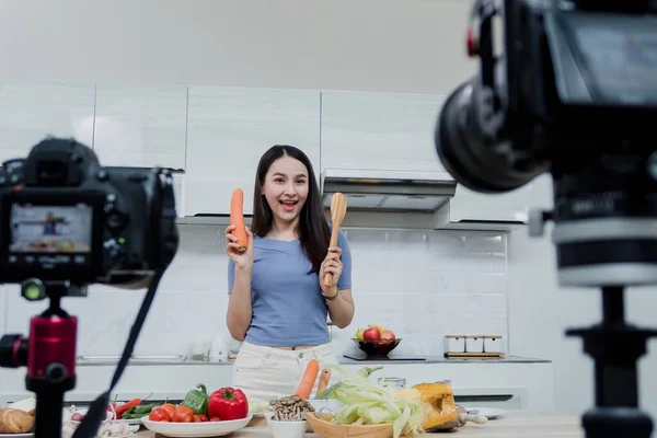
M229 214L238 187L253 214L257 163L274 145L306 152L319 181L319 92L191 87L185 215Z

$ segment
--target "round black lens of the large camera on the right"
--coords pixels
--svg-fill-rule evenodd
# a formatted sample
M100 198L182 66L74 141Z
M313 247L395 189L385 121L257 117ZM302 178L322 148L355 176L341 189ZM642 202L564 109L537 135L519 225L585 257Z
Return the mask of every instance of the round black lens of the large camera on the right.
M459 184L481 193L509 192L542 172L519 170L499 143L492 96L476 79L461 84L445 102L435 131L436 151Z

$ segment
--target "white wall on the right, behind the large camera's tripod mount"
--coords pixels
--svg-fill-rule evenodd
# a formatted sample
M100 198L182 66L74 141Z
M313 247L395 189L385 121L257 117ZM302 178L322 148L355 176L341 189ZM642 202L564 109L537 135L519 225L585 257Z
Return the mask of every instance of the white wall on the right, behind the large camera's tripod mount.
M544 181L545 177L543 176ZM538 206L552 206L550 185L541 184ZM592 288L561 288L556 256L550 240L552 223L543 238L530 238L527 229L509 233L509 338L515 354L549 357L554 361L555 405L581 414L593 406L593 361L583 353L580 338L565 337L565 330L584 327L601 318L601 293ZM626 319L657 327L657 288L626 292ZM544 320L541 324L538 321ZM657 420L657 343L639 362L641 405Z

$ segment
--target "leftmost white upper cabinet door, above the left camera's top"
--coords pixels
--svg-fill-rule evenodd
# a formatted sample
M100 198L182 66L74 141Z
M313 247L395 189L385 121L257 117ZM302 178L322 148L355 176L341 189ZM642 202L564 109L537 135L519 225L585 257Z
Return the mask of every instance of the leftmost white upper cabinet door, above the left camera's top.
M1 83L0 162L26 158L47 136L92 147L93 83Z

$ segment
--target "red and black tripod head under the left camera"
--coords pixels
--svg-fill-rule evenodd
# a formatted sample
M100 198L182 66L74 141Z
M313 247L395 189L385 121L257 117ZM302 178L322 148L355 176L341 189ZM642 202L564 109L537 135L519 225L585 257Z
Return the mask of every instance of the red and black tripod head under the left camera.
M0 339L0 367L27 367L25 384L36 394L35 438L59 436L64 394L76 388L76 342L78 319L61 309L62 297L78 295L68 283L43 284L32 279L23 284L28 300L49 298L41 315L30 321L30 337L4 335Z

